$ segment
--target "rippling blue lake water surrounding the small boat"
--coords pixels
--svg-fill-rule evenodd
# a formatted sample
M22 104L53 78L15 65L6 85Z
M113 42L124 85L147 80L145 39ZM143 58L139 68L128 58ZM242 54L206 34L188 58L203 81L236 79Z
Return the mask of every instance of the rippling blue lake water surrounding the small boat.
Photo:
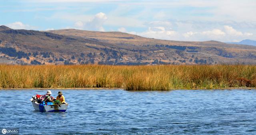
M51 90L56 97L59 90ZM0 90L0 131L21 134L256 134L256 90L62 90L66 112L37 112L46 90Z

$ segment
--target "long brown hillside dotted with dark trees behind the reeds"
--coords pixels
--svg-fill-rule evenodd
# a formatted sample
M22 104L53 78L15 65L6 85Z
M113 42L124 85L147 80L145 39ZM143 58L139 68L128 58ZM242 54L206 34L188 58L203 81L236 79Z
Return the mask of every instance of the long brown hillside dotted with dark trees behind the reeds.
M0 63L20 65L255 64L256 47L219 41L169 41L122 32L0 26Z

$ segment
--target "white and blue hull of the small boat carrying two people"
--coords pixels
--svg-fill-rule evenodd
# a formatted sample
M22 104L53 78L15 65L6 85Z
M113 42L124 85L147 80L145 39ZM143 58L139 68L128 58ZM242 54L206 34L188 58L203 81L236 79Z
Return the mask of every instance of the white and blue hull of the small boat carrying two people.
M33 100L33 98L30 99L32 102L32 105L35 110L40 111L39 109L39 103ZM68 109L68 104L57 104L57 105L49 105L49 106L44 106L44 109L41 110L41 112L66 112Z

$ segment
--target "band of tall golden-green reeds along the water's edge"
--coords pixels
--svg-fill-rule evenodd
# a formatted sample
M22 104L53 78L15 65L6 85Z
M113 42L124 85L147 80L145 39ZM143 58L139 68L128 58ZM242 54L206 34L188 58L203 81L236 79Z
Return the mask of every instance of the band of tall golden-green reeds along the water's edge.
M256 87L255 65L0 65L0 88L124 90Z

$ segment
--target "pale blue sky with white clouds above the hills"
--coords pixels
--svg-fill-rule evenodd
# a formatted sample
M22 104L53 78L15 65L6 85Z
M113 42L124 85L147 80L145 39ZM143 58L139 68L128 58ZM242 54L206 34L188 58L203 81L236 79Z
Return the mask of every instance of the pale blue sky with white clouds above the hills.
M256 40L256 0L1 0L12 29L120 31L176 41Z

